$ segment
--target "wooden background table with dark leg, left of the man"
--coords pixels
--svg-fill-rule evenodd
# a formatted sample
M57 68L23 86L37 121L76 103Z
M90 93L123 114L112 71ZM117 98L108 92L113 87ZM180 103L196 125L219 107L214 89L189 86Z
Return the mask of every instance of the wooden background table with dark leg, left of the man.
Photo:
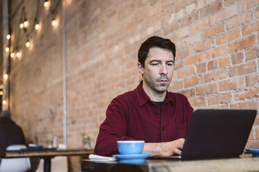
M86 149L67 149L58 150L54 148L29 148L22 150L6 150L0 151L0 158L17 158L17 157L40 157L44 160L44 171L51 171L51 159L55 156L76 156L89 155L93 150Z

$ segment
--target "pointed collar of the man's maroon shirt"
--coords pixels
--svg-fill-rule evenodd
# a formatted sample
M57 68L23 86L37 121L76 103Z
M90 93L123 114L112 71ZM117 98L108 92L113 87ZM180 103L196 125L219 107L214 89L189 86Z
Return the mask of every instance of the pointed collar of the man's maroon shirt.
M139 106L144 105L148 101L151 102L150 97L148 96L148 94L146 94L146 92L142 87L142 83L143 81L141 81L138 87L136 87L136 98L138 99ZM168 91L166 90L166 99L164 103L167 103L167 102L171 102L173 104L173 96L168 95Z

